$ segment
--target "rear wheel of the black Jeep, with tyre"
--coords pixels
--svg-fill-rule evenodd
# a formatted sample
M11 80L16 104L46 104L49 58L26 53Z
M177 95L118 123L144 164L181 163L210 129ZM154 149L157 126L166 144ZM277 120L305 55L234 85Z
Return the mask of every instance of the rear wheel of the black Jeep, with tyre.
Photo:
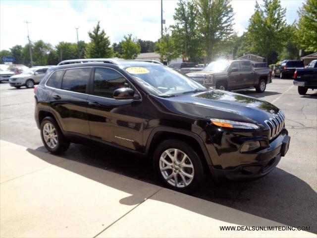
M45 148L52 154L60 154L69 147L69 141L65 140L57 122L51 117L41 122L41 138Z

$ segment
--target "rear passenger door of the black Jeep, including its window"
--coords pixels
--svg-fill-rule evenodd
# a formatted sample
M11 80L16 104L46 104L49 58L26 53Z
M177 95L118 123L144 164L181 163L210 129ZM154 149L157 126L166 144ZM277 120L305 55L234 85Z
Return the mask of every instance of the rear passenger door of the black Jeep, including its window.
M50 99L51 107L62 129L89 138L86 90L91 69L92 67L66 69ZM50 78L47 84L49 82Z

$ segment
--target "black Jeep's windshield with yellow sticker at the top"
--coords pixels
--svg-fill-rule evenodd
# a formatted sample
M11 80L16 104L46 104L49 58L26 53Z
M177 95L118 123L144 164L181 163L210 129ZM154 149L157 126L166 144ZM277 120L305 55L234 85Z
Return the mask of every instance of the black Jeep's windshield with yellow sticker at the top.
M208 90L193 79L167 66L128 67L125 70L150 93L161 97Z

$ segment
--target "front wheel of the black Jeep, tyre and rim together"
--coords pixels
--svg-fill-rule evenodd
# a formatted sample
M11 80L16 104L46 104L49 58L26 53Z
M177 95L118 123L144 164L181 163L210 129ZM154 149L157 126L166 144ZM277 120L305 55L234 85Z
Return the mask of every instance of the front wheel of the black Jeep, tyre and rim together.
M202 161L187 143L169 139L154 152L153 166L161 183L176 191L190 193L205 179Z

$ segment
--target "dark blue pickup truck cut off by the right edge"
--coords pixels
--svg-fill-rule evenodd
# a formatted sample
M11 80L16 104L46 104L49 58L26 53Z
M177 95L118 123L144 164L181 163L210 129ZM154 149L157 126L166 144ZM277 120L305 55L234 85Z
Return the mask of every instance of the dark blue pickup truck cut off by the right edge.
M293 83L298 86L300 95L305 95L309 88L317 89L317 60L311 61L306 68L297 68Z

